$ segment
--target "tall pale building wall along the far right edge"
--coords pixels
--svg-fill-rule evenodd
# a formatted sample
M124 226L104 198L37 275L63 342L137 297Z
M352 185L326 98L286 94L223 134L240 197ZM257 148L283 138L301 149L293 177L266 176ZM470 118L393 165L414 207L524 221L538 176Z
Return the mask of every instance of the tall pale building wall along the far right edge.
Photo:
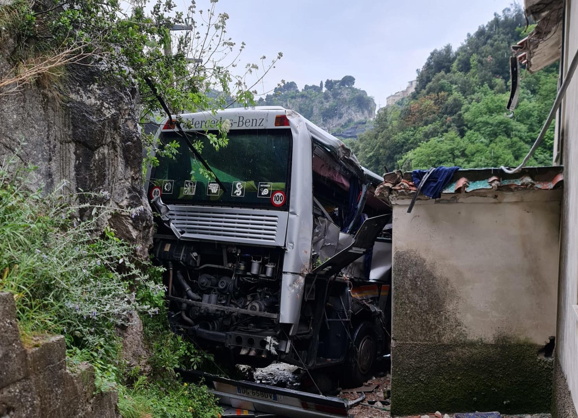
M565 68L578 50L578 1L566 1ZM562 103L562 159L564 164L564 196L560 237L560 291L558 296L558 330L556 361L561 367L559 384L554 388L555 410L572 410L578 417L578 74L566 91ZM565 379L565 380L564 380ZM567 387L564 387L567 382ZM558 392L569 394L558 396ZM572 405L573 402L573 405ZM570 417L570 415L558 415Z

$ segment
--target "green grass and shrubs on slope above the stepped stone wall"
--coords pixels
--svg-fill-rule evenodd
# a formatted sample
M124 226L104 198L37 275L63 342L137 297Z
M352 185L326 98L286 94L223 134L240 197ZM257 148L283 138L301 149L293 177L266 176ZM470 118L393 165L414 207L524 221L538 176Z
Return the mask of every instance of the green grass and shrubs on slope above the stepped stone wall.
M0 291L14 295L23 339L64 334L69 367L91 363L97 391L117 389L125 418L217 416L206 387L183 389L173 372L212 358L169 330L161 269L99 226L115 211L108 193L69 193L66 182L49 193L33 190L33 171L15 156L0 163ZM116 329L133 312L154 348L148 377L119 356Z

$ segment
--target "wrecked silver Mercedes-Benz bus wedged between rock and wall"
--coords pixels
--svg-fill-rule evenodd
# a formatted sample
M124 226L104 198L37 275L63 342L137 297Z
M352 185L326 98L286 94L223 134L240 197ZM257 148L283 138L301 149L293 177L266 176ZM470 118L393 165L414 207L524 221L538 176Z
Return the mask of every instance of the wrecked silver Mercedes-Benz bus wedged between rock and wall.
M158 156L146 182L172 329L237 364L364 382L390 349L391 208L373 194L383 179L283 107L177 120L157 137L178 152ZM216 150L218 125L228 144Z

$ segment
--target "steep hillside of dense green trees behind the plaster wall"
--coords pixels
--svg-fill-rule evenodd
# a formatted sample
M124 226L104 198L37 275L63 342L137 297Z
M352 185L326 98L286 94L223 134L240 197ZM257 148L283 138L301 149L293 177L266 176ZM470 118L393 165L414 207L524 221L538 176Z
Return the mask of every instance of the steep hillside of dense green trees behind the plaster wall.
M506 117L510 46L532 26L520 6L480 26L465 42L433 50L418 71L416 91L380 109L375 129L348 145L363 165L377 173L439 165L516 166L546 120L557 91L558 66L521 72L520 99ZM529 165L549 165L554 126Z

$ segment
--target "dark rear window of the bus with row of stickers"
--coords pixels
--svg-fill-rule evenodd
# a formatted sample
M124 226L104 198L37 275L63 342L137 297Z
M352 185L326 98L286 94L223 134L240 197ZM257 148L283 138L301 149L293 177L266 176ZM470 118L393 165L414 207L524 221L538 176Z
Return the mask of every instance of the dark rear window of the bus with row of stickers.
M225 190L203 167L179 132L163 132L162 143L176 141L178 153L174 158L158 158L158 166L151 170L149 197L157 186L161 188L162 201L168 204L287 210L290 129L231 130L227 146L218 151L203 134L187 132L192 143L202 142L202 158Z

